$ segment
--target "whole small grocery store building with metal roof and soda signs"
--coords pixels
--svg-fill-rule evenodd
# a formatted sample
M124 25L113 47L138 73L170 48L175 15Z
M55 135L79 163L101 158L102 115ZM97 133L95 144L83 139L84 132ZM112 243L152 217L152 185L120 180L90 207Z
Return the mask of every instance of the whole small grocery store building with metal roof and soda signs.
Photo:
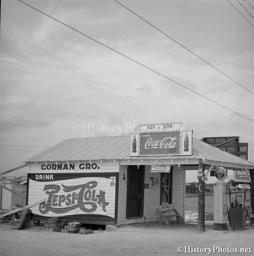
M207 169L254 167L192 131L151 130L68 139L27 160L27 204L45 199L31 207L32 218L119 226L158 221L157 209L168 203L184 218L186 170L200 162Z

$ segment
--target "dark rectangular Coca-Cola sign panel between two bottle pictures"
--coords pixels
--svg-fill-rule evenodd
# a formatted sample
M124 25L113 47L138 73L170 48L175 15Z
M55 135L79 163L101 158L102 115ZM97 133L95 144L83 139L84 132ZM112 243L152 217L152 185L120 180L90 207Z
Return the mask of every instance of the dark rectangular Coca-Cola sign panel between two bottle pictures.
M180 155L180 131L140 134L140 156Z

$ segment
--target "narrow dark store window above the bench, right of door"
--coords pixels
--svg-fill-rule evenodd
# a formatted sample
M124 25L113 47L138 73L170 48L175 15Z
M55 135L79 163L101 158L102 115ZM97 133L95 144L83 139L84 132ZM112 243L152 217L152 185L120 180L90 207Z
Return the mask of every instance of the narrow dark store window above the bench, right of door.
M161 200L160 204L171 204L172 203L172 172L170 173L161 173Z

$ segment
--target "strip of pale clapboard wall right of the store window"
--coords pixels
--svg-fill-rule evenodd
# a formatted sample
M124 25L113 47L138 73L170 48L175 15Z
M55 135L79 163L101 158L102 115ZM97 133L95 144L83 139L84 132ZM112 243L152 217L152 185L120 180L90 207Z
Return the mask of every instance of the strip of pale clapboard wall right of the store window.
M172 184L172 205L184 218L185 201L185 170L183 167L173 166L173 184Z

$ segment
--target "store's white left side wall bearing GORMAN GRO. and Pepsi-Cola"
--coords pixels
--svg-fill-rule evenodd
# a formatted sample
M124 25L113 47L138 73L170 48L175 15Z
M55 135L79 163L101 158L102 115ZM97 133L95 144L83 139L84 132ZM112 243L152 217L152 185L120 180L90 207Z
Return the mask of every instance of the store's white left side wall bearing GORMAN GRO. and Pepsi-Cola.
M52 169L40 173L41 163L38 166L31 164L28 204L46 198L45 203L31 208L32 218L59 217L88 224L116 224L118 162L98 163L98 166L101 167L99 172L94 170L94 173L86 170L83 173L75 170L62 173L62 170ZM106 172L100 172L105 168Z

